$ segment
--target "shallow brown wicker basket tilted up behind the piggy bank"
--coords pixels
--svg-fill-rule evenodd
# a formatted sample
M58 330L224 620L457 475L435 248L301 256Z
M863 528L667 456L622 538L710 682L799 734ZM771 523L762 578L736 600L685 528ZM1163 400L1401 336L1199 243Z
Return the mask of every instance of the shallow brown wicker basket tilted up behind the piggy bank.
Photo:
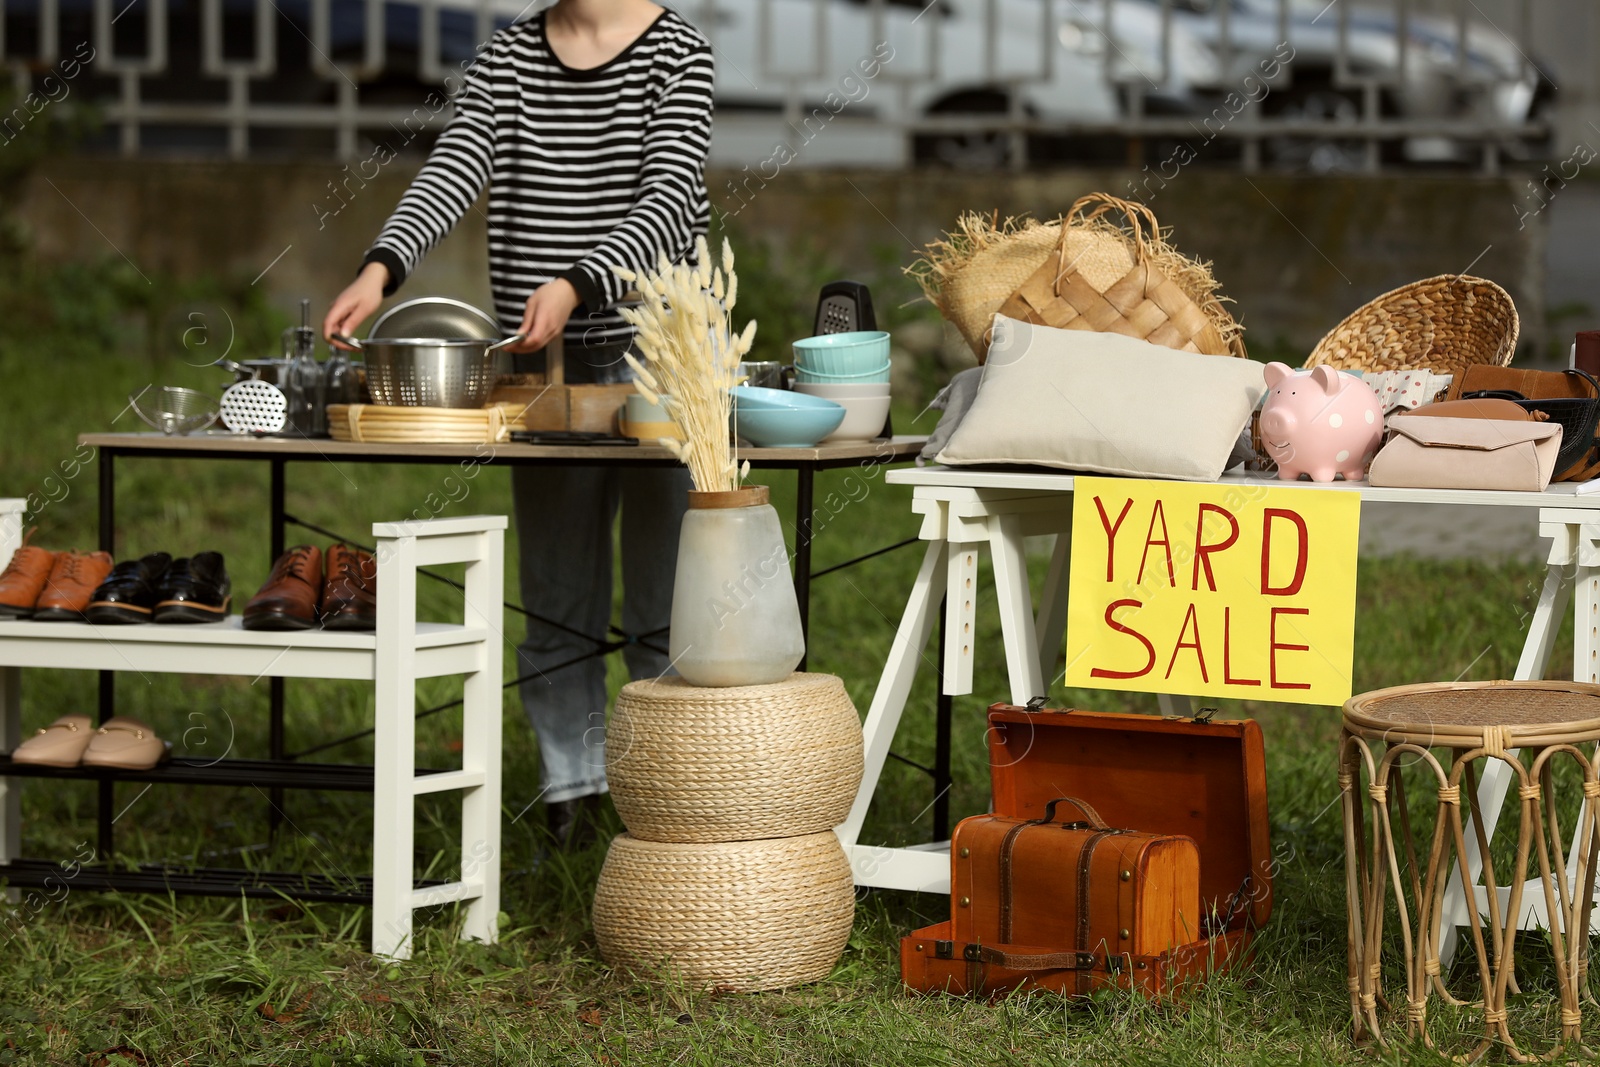
M1355 309L1317 342L1306 366L1461 374L1474 363L1510 363L1520 330L1506 290L1488 278L1443 274Z

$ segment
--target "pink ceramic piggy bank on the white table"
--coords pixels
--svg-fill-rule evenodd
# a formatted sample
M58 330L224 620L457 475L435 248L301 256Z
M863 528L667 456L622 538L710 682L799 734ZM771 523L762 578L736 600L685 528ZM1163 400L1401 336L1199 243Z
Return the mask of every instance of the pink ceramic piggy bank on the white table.
M1266 378L1261 443L1278 477L1360 482L1384 437L1382 406L1366 382L1331 366L1294 371L1286 363L1267 363Z

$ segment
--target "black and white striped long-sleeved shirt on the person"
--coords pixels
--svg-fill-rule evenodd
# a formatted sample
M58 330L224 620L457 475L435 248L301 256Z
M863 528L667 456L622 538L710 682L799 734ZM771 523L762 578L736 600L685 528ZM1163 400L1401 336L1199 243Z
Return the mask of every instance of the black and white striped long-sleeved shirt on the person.
M566 278L579 307L568 346L626 341L613 267L682 259L706 232L712 53L674 11L610 62L574 70L550 50L544 13L498 32L456 114L365 262L398 288L488 186L490 283L509 328L528 296Z

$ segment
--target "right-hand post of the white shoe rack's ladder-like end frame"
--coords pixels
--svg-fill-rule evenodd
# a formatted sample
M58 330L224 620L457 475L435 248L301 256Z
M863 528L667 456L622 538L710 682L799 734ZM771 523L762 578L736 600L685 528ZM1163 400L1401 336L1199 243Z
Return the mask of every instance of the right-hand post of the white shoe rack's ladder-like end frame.
M467 565L467 625L485 625L483 665L466 677L461 693L461 769L483 774L483 784L461 797L461 881L480 888L467 904L464 939L493 944L499 939L501 878L501 673L504 665L504 531L478 534L483 549Z

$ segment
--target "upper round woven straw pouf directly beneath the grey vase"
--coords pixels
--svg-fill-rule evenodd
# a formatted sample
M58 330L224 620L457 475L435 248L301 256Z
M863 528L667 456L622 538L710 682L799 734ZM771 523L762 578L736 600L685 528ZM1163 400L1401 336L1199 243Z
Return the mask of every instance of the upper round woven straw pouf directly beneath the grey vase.
M861 784L861 718L832 675L702 689L630 681L606 728L606 777L629 833L750 841L845 821Z

